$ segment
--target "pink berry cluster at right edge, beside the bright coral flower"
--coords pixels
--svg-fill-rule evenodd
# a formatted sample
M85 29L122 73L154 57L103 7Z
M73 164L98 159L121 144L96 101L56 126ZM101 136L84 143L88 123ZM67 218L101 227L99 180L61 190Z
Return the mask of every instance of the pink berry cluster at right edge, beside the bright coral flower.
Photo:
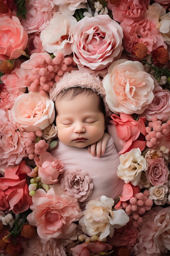
M159 146L161 140L170 132L170 120L163 123L161 120L157 119L156 116L154 116L148 123L146 132L146 146L148 148L155 149L157 146Z

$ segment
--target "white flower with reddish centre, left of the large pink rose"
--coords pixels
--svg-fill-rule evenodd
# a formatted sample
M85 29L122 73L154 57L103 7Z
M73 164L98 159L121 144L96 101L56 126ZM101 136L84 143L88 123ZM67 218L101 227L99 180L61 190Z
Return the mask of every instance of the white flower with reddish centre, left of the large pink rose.
M42 46L46 52L55 56L57 52L62 52L64 56L71 54L73 38L70 28L76 23L77 20L73 16L64 16L60 13L54 16L40 33Z

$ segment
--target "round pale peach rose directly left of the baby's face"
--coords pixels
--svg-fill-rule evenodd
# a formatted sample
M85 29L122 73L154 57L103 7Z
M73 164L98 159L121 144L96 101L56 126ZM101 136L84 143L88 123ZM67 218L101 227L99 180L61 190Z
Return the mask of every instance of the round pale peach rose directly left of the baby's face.
M39 92L18 96L11 112L13 120L29 132L43 130L55 119L54 102Z

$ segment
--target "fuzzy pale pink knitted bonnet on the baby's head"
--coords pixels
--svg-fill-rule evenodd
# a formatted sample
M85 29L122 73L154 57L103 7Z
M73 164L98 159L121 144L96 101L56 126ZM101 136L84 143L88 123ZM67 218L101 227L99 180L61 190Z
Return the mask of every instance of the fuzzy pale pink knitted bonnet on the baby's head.
M90 88L98 95L103 98L106 116L110 115L110 110L106 103L106 93L102 84L102 81L99 79L99 76L95 76L89 73L82 73L79 70L72 70L71 72L64 73L61 76L60 81L56 82L53 88L50 90L50 99L55 101L57 95L60 92L66 91L68 88L80 86L82 88Z

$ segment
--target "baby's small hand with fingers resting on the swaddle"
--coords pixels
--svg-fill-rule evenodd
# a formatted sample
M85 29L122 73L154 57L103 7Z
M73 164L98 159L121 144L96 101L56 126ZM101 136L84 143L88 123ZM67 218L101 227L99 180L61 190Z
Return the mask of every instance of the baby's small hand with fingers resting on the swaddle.
M105 149L106 149L106 144L108 140L110 139L110 135L107 132L104 132L104 135L102 139L97 141L94 144L91 144L87 147L88 152L94 157L95 153L97 157L101 157L101 155L104 155Z

